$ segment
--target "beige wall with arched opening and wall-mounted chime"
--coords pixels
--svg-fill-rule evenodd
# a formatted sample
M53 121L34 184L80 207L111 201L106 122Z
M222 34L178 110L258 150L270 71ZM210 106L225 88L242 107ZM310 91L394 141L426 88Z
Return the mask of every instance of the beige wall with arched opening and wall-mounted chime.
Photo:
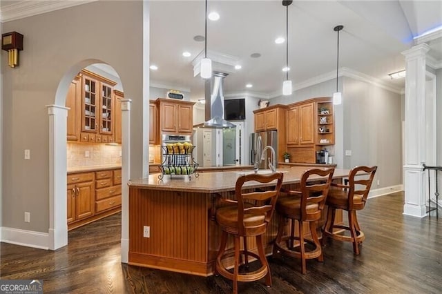
M97 1L3 23L3 32L24 35L20 66L8 68L6 54L1 60L4 227L48 232L46 105L64 105L68 83L89 63L113 66L133 101L130 173L142 175L142 11L142 1ZM60 81L64 95L56 101ZM24 149L30 149L30 160L23 159ZM25 211L30 223L23 222Z

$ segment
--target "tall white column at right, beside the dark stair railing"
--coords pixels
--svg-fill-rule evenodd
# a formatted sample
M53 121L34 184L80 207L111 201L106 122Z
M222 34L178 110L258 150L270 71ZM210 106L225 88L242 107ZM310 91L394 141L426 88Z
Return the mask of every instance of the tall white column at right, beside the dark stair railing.
M405 165L403 166L404 215L425 217L425 163L427 116L425 114L425 55L423 43L402 52L405 55Z

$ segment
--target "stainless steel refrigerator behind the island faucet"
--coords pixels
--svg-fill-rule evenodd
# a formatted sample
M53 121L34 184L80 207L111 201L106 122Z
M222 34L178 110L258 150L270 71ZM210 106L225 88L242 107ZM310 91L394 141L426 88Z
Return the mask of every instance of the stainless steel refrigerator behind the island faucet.
M255 164L257 157L261 154L265 146L271 146L275 150L275 168L278 166L278 132L269 130L265 132L252 133L250 135L250 164ZM259 168L269 168L269 159L271 159L271 151L267 149L265 160L258 158Z

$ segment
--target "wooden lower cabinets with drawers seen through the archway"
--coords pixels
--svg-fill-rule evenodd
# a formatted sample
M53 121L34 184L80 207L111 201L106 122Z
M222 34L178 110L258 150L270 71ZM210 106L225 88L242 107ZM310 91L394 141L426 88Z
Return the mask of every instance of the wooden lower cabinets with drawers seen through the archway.
M121 169L72 173L67 179L68 230L121 211Z

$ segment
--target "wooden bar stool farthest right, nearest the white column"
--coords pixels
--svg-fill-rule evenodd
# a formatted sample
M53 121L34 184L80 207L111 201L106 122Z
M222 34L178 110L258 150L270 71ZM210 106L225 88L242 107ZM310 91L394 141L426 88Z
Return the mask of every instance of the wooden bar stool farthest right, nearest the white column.
M365 235L358 224L356 210L364 208L377 168L377 166L356 166L350 170L348 185L332 184L332 186L340 189L330 189L327 196L326 204L328 208L327 219L323 228L323 244L325 237L352 242L354 253L359 255L359 244L362 244ZM348 226L334 224L336 209L347 210ZM334 231L334 229L338 229L338 231ZM350 235L345 235L346 231L349 231Z

